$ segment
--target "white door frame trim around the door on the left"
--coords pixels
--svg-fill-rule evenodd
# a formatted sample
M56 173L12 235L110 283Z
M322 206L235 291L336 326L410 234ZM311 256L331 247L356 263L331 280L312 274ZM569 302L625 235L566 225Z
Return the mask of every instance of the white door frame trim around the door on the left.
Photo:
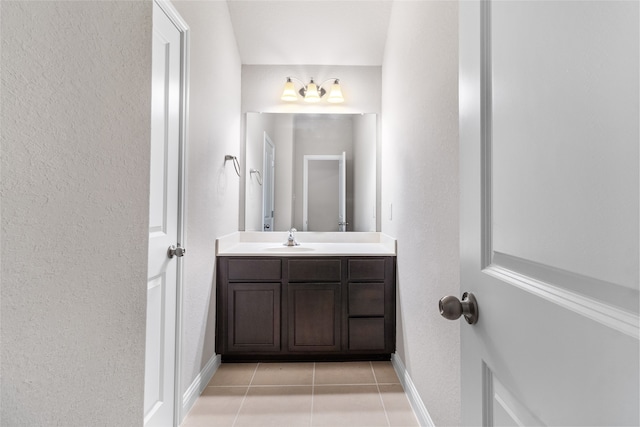
M186 157L187 157L187 121L189 108L189 39L190 29L182 19L178 11L169 0L154 0L154 2L167 15L169 20L180 32L180 142L178 159L178 240L184 248L187 247L187 235L185 227L186 218ZM183 258L177 258L176 271L176 345L175 345L175 376L173 393L173 425L178 426L182 421L182 393L180 391L180 378L182 373L182 284L184 275Z

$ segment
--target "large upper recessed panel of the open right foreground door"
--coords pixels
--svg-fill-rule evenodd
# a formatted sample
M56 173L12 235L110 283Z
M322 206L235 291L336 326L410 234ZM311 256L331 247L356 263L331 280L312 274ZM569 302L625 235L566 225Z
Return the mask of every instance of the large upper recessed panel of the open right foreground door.
M493 250L638 290L638 14L572 3L491 2Z

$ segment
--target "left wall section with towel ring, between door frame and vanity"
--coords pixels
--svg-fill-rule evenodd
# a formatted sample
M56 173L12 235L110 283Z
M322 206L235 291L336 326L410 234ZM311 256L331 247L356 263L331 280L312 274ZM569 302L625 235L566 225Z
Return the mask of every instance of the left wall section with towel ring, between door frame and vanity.
M238 230L240 56L226 2L174 1L191 30L187 248L182 306L184 393L215 356L216 238Z

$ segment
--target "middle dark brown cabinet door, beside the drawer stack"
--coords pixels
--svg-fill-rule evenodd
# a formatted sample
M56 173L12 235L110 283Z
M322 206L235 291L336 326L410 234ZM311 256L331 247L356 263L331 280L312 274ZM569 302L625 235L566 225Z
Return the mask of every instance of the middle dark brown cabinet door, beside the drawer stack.
M340 350L340 283L295 283L288 291L289 350Z

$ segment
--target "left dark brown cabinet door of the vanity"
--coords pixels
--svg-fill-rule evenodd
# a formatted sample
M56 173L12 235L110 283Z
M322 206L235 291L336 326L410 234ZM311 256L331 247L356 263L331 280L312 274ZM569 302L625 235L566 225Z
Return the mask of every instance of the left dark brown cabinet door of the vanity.
M280 351L280 283L230 283L227 348Z

